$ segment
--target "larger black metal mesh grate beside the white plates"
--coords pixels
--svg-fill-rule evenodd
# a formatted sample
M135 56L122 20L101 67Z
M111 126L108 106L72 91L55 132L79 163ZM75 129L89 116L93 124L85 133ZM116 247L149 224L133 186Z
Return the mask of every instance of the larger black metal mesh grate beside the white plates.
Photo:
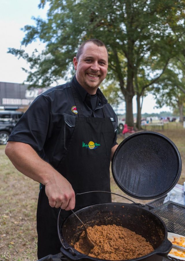
M167 230L185 236L185 206L168 201L151 210L165 223Z

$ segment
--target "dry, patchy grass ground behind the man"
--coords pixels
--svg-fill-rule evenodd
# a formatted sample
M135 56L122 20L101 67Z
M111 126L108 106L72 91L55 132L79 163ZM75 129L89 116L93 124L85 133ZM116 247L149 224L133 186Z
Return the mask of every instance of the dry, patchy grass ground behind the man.
M150 126L147 126L151 130ZM156 130L157 131L157 130ZM185 181L185 128L181 124L169 123L158 131L169 137L180 151L182 174L178 181ZM119 135L118 142L123 140ZM37 260L36 206L39 184L19 173L4 154L0 146L0 260ZM112 192L125 195L111 176ZM128 202L112 196L114 202ZM147 201L135 200L145 203Z

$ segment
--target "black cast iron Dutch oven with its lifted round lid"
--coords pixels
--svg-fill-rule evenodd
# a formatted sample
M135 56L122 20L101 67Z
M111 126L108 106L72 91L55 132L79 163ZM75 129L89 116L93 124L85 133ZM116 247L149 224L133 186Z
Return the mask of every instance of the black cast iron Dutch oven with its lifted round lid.
M112 174L116 184L132 197L150 200L168 193L179 180L182 170L180 153L175 144L155 132L135 133L116 149ZM85 196L85 195L84 195ZM142 204L105 203L88 206L76 212L87 226L116 224L142 235L154 248L151 253L130 260L151 260L154 255L167 255L172 248L164 222ZM61 252L69 260L99 260L76 251L83 226L74 214L59 226Z

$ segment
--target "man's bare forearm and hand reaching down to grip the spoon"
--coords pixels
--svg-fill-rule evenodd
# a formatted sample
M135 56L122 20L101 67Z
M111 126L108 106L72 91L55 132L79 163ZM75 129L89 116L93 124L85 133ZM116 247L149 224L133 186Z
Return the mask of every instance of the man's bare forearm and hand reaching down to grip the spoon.
M29 144L8 142L5 154L18 171L45 185L51 207L74 209L75 192L71 184L49 163L42 160Z

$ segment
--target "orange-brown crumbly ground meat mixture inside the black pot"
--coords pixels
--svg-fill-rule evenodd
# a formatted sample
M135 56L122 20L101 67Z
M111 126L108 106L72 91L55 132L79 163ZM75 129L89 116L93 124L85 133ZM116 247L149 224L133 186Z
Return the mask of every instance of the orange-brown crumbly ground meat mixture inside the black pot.
M89 248L83 231L74 248L94 258L125 260L138 258L153 251L153 247L145 238L122 226L93 226L88 227L87 232L95 247Z

